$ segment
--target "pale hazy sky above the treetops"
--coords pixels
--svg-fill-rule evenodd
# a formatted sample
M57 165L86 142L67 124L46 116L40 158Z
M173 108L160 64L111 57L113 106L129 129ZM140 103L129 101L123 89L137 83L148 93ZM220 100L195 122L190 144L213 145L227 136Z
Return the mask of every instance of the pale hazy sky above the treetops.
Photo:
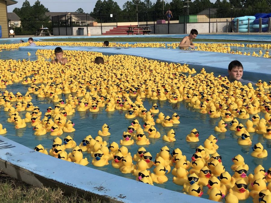
M8 6L8 12L12 12L14 8L21 8L25 0L15 0L18 3ZM28 0L32 6L36 0ZM82 8L85 13L93 11L97 0L39 0L50 12L75 12L78 8ZM121 9L123 4L128 0L114 0L118 3ZM189 0L190 1L190 0ZM194 0L192 0L194 1ZM156 2L156 0L152 0ZM165 2L171 2L171 0L165 0ZM210 0L210 2L216 2L216 0Z

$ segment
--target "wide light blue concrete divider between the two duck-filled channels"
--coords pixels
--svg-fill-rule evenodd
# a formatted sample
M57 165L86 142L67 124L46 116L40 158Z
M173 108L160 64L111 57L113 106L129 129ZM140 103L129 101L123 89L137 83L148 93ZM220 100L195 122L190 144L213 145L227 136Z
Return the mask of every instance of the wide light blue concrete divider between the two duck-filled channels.
M205 68L207 72L223 72L228 74L228 65L233 60L239 60L244 66L244 78L257 78L269 82L271 78L271 63L269 58L226 54L211 51L193 51L161 48L120 48L120 47L62 47L64 50L97 51L103 54L126 54L148 59L189 64L199 71ZM21 51L36 51L38 49L55 49L55 46L20 47Z

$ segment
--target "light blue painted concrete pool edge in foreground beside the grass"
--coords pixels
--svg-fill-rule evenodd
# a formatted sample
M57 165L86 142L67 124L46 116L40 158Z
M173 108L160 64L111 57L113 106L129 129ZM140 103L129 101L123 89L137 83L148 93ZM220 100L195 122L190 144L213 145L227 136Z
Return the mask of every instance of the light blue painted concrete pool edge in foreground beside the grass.
M97 196L105 202L214 202L54 158L3 136L0 169L34 186L59 187L66 193L76 190L79 195L86 193L86 197Z

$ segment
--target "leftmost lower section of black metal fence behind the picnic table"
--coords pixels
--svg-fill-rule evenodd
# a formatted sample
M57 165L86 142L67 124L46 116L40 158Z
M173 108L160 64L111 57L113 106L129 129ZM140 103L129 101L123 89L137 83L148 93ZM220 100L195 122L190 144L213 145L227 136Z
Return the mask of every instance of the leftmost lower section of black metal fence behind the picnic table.
M8 26L14 30L15 35L33 35L33 32L42 27L53 31L51 20L8 20Z

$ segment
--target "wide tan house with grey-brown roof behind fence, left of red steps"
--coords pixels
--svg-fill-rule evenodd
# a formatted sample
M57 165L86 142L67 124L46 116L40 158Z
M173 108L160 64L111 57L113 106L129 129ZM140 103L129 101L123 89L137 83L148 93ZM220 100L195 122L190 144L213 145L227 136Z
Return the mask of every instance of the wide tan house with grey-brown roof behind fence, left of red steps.
M70 26L70 23L78 26L93 26L96 22L95 18L91 17L89 14L78 14L76 12L46 12L45 16L48 16L50 19L58 16L58 21L61 24ZM55 21L55 20L54 20Z

